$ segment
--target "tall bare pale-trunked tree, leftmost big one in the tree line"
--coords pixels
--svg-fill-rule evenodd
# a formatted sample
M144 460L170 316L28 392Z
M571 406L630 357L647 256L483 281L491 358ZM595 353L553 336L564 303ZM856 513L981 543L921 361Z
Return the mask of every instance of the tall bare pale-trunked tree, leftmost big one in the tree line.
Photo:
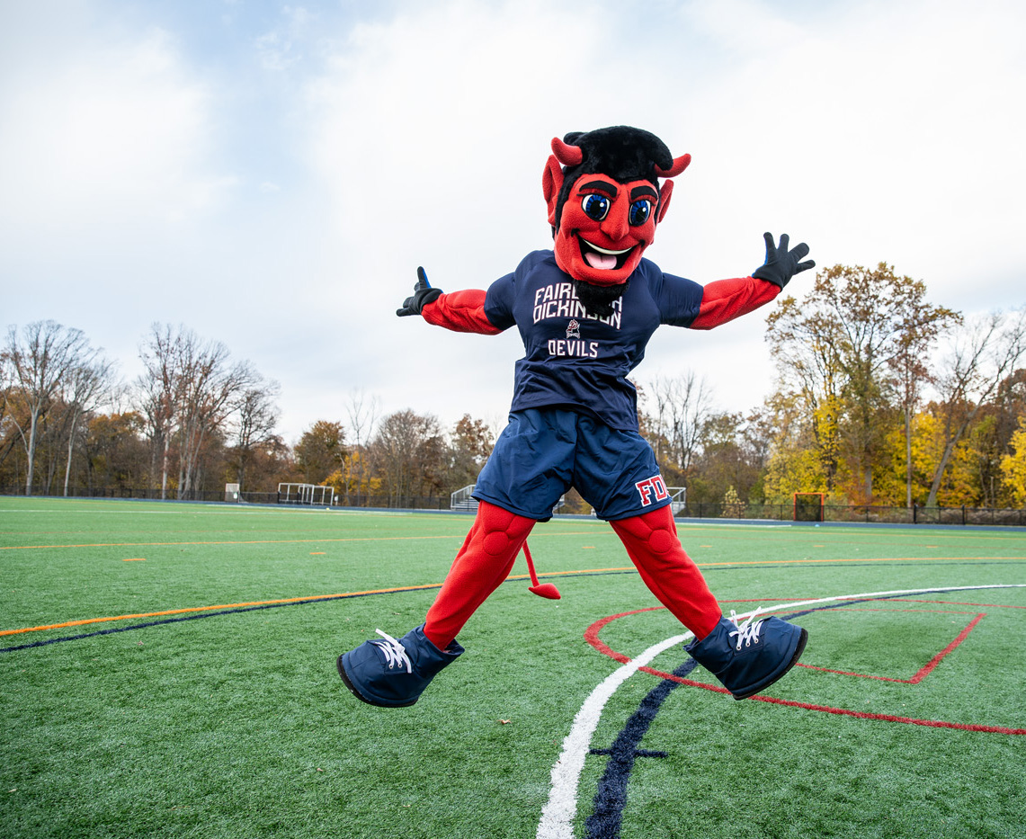
M26 495L32 494L40 421L60 396L60 389L71 370L89 363L95 353L80 329L62 326L52 320L30 323L21 335L14 326L7 332L4 358L11 384L21 392L28 408L28 429L14 419L28 458Z

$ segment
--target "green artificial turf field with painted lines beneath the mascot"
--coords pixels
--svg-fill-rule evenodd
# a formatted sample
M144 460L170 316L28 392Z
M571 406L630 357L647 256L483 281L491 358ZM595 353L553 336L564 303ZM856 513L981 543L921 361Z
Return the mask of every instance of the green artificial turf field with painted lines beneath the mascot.
M810 632L735 702L555 519L561 600L520 559L417 706L356 702L336 657L421 623L470 522L0 498L0 837L1026 836L1026 534L681 524L727 613Z

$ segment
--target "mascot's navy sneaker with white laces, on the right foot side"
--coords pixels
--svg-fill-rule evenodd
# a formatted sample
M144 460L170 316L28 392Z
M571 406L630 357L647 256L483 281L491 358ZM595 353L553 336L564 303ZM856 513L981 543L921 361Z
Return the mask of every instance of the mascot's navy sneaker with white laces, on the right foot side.
M756 609L756 614L758 609ZM795 666L805 648L808 633L779 617L735 623L720 616L716 628L684 649L719 679L736 700L764 690Z

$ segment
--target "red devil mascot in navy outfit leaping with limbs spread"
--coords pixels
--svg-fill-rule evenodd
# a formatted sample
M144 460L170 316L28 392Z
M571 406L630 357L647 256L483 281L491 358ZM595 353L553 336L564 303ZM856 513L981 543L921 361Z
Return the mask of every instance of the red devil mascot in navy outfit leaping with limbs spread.
M509 425L474 489L477 517L425 623L395 639L365 641L339 656L346 686L382 707L409 706L463 652L457 634L506 580L536 522L571 486L609 522L659 601L695 634L685 649L736 698L781 678L806 639L779 617L723 616L684 552L652 447L638 433L628 374L661 324L711 329L768 303L808 247L765 234L765 264L751 276L706 286L642 258L690 155L674 158L655 134L628 126L552 141L543 174L552 250L527 254L487 291L443 294L423 269L396 314L461 332L520 330ZM531 576L534 566L528 559ZM558 597L553 586L539 594Z

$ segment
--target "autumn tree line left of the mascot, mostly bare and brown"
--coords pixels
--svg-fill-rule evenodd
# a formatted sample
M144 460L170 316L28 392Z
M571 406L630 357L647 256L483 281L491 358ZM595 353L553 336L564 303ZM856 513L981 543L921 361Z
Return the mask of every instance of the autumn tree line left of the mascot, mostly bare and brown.
M437 417L380 415L356 392L346 422L318 419L294 445L277 431L280 385L184 326L154 324L143 372L117 377L79 329L53 321L8 328L0 350L0 490L195 500L238 483L330 484L350 504L448 500L472 483L494 442L479 419L443 431ZM453 484L459 484L455 486Z

